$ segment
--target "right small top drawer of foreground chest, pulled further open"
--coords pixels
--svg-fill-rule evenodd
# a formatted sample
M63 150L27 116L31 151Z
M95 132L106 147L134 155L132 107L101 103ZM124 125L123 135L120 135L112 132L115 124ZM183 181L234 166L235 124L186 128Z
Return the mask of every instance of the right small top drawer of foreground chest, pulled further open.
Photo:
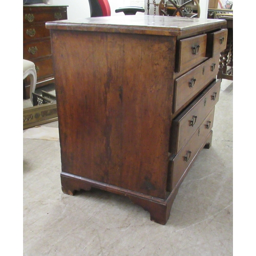
M227 46L227 29L207 34L207 48L208 56L220 54Z

